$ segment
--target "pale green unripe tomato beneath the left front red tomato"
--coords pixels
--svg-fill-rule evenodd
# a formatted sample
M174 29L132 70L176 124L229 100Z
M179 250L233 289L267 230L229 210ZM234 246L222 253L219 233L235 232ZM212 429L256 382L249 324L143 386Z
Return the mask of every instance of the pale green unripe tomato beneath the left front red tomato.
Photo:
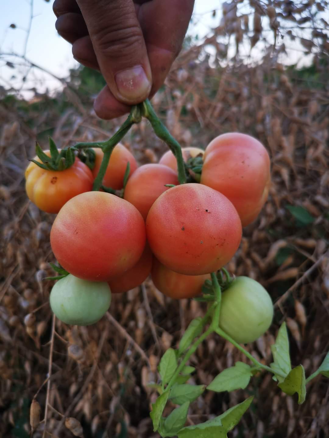
M52 311L66 324L95 324L110 304L111 289L107 283L82 280L72 274L58 280L50 293Z

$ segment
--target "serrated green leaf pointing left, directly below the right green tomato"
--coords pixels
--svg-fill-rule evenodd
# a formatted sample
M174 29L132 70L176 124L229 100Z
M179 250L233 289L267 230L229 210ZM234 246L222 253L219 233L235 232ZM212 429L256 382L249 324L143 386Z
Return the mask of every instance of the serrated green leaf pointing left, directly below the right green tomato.
M251 368L248 364L236 362L234 367L226 368L226 370L219 373L207 386L207 389L215 392L245 389L251 376Z

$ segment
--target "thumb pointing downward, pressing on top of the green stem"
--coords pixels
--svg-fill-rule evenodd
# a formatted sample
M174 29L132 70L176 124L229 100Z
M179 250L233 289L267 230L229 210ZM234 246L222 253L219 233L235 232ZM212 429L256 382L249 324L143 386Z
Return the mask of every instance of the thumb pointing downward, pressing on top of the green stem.
M114 97L130 105L147 99L152 74L133 1L77 0L77 3L100 71Z

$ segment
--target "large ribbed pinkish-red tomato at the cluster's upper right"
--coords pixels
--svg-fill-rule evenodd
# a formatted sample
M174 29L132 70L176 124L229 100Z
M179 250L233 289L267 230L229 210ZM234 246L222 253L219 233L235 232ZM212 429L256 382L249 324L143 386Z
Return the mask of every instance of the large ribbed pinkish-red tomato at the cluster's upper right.
M268 197L268 153L250 135L237 132L220 135L204 152L200 182L229 198L242 226L247 226L256 219Z

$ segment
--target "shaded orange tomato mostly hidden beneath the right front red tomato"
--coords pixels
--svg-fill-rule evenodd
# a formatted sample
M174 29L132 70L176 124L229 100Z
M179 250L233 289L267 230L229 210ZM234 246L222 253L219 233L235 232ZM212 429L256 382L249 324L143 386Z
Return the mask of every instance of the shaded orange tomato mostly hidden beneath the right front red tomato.
M193 298L201 293L204 280L209 274L184 275L166 268L155 257L153 258L151 278L154 286L170 298Z

